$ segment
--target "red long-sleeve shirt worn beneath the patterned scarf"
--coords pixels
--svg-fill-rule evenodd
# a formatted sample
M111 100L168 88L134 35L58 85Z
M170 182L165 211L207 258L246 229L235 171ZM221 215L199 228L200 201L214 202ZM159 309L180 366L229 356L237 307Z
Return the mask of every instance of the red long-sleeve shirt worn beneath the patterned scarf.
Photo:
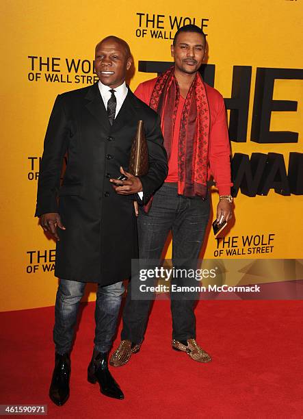
M135 90L135 95L149 105L157 78L144 81ZM210 129L209 129L209 173L208 179L213 175L220 195L229 195L230 186L230 144L226 123L226 111L222 94L205 83L207 99L209 102ZM168 162L168 177L166 181L178 181L178 141L181 114L184 99L179 102L179 108L174 125L172 150Z

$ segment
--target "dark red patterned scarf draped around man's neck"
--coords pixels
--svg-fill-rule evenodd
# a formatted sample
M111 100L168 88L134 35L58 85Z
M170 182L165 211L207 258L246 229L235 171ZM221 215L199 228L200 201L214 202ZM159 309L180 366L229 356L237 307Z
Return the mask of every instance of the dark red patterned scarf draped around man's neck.
M161 117L164 147L170 157L180 90L174 67L160 75L150 107ZM209 152L209 104L200 73L190 86L181 116L178 148L178 193L206 196Z

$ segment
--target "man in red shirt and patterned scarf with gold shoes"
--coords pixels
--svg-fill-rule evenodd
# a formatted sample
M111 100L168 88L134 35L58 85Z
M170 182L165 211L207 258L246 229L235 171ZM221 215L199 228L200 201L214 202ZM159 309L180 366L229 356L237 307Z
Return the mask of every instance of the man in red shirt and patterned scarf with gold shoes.
M196 266L209 223L207 181L213 175L220 200L217 219L232 216L230 144L222 95L202 81L198 69L205 56L205 34L196 25L181 27L171 47L174 66L137 87L135 94L161 116L168 177L153 196L148 214L137 218L140 259L161 257L172 231L172 262ZM144 192L144 190L143 190ZM175 263L174 263L175 261ZM131 298L123 312L122 341L110 359L122 366L140 349L151 301ZM211 357L196 342L195 301L171 299L172 348L200 362Z

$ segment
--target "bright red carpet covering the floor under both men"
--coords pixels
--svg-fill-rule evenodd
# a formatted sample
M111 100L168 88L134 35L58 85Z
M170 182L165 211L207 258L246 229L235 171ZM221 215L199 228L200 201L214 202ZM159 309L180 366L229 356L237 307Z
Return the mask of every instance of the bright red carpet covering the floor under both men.
M302 301L200 302L198 342L213 361L198 364L170 348L169 304L157 301L140 353L111 368L125 394L118 401L86 381L94 334L89 303L63 407L48 398L53 307L1 313L0 404L47 404L51 418L302 418L302 309Z

